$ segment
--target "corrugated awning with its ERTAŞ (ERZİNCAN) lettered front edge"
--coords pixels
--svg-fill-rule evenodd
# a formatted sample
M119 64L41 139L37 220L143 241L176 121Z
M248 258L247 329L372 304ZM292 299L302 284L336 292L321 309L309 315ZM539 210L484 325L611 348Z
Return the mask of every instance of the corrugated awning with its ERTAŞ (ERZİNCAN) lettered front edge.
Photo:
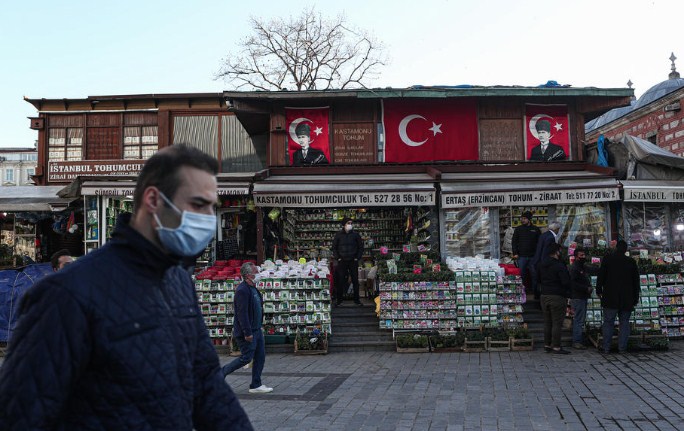
M616 179L591 172L442 175L443 208L580 204L620 199Z

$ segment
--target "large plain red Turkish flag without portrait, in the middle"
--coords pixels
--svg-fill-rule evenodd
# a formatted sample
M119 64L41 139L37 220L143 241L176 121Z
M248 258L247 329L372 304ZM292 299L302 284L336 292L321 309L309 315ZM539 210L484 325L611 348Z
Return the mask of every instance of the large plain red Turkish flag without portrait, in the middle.
M477 160L473 98L383 100L386 162Z

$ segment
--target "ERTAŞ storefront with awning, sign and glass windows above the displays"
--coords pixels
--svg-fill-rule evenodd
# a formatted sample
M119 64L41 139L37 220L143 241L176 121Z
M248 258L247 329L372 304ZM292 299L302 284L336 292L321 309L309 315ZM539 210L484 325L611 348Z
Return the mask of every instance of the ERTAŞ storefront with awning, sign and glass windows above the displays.
M590 170L443 173L441 253L505 257L506 230L520 225L524 211L542 229L560 222L559 243L565 247L605 245L611 239L609 202L618 200L615 178Z

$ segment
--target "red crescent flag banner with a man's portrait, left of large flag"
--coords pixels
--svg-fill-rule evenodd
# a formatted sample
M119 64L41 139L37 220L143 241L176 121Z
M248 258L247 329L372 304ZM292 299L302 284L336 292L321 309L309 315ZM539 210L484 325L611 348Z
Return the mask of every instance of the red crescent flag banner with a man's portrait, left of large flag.
M328 164L330 108L285 108L290 166Z

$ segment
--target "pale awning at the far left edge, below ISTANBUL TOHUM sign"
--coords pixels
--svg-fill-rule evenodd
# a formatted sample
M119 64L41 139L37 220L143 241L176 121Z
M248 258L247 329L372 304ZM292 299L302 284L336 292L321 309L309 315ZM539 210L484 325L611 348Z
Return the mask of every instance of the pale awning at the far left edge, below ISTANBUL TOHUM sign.
M0 211L62 210L74 200L57 196L57 192L63 188L63 186L0 187Z

